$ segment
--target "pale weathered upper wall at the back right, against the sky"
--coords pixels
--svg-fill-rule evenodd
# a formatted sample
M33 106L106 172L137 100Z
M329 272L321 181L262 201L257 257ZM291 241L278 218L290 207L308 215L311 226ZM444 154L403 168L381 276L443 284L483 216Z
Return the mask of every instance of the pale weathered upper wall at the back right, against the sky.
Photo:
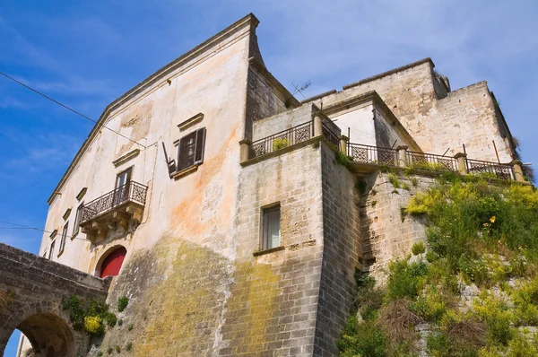
M447 92L433 74L429 58L344 86L343 91L314 100L318 106L335 105L360 93L377 91L387 107L402 122L424 152L463 152L469 158L497 161L491 140L495 140L500 160L512 160L509 132L496 114L485 82Z

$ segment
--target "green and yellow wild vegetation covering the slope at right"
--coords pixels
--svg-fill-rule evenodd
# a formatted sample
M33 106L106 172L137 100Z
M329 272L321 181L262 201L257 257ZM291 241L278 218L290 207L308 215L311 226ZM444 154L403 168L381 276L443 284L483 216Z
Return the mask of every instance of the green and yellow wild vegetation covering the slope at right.
M357 278L341 355L416 355L416 326L424 323L432 356L537 355L538 334L525 330L538 326L534 187L447 173L413 196L404 214L426 218L426 244L415 243L415 257L389 265L383 289L368 276Z

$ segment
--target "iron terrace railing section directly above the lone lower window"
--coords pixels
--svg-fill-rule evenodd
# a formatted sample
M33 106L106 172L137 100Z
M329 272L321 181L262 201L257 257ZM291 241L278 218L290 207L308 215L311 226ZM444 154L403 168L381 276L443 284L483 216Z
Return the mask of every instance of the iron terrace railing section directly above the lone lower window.
M314 121L293 126L290 129L256 140L250 145L250 157L256 158L284 147L299 144L314 136Z

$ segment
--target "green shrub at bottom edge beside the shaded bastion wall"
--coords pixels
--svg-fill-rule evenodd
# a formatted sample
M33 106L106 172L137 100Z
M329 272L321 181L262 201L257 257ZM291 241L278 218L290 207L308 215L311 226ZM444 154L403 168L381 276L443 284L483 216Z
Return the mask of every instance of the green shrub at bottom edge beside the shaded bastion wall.
M342 357L385 357L388 353L383 331L373 322L358 324L354 316L343 327L338 348Z

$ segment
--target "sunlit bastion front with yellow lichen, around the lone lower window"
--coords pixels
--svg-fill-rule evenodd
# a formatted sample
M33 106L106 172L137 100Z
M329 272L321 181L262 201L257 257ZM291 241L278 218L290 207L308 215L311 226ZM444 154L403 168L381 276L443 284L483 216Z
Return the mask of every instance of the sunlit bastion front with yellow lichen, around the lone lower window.
M323 249L319 152L309 145L241 172L222 355L312 355ZM255 257L262 209L278 203L282 249Z

